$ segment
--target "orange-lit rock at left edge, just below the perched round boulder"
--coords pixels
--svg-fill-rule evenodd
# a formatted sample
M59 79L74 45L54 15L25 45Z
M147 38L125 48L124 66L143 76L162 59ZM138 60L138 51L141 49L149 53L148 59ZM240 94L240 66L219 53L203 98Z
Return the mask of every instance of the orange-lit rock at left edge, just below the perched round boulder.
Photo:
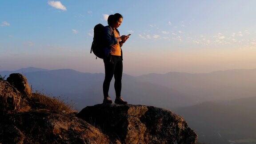
M21 93L6 80L0 80L0 115L19 110Z

